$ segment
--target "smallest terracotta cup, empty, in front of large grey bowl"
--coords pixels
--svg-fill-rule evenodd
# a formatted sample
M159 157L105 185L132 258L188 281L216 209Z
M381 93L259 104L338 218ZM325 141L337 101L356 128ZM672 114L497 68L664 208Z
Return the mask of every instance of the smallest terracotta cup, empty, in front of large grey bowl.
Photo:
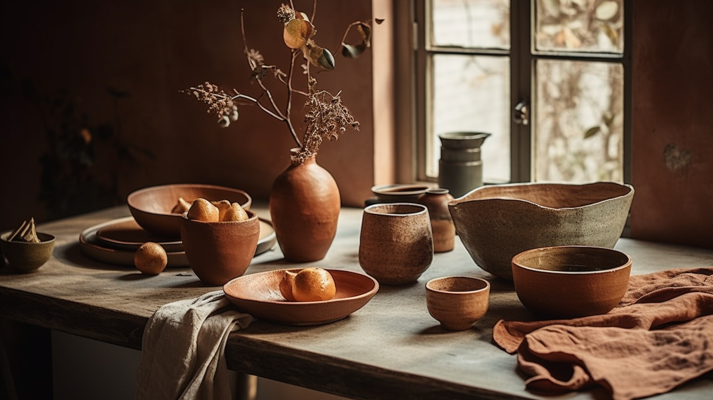
M444 276L426 283L429 314L449 331L465 331L488 312L490 283L474 276Z

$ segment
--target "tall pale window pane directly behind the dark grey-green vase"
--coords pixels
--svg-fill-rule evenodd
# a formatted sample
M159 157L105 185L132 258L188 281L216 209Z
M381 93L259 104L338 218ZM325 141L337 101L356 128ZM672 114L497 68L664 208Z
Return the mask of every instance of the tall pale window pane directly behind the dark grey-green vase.
M488 132L481 147L483 181L510 181L510 60L504 56L433 56L431 129L426 175L438 176L439 134Z

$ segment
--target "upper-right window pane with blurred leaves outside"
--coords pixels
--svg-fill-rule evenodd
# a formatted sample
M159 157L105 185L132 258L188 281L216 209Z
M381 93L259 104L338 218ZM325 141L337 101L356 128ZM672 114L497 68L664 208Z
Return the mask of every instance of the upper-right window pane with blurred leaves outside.
M535 48L541 51L624 49L622 0L538 0Z

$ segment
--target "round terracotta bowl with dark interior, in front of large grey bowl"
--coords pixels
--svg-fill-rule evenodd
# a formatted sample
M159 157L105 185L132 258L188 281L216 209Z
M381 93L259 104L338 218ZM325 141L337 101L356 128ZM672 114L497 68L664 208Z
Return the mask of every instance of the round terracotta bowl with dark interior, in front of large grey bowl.
M545 318L606 314L629 286L631 257L605 247L555 246L513 257L520 302Z

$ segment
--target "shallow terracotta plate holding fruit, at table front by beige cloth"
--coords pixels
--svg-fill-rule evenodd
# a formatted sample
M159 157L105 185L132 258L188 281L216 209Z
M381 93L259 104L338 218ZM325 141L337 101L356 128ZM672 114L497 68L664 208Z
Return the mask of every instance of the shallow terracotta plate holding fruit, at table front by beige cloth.
M297 272L300 269L289 269ZM238 309L259 319L284 325L320 325L339 321L369 302L379 283L361 272L327 269L337 294L326 301L287 301L279 293L284 269L243 275L223 286Z

